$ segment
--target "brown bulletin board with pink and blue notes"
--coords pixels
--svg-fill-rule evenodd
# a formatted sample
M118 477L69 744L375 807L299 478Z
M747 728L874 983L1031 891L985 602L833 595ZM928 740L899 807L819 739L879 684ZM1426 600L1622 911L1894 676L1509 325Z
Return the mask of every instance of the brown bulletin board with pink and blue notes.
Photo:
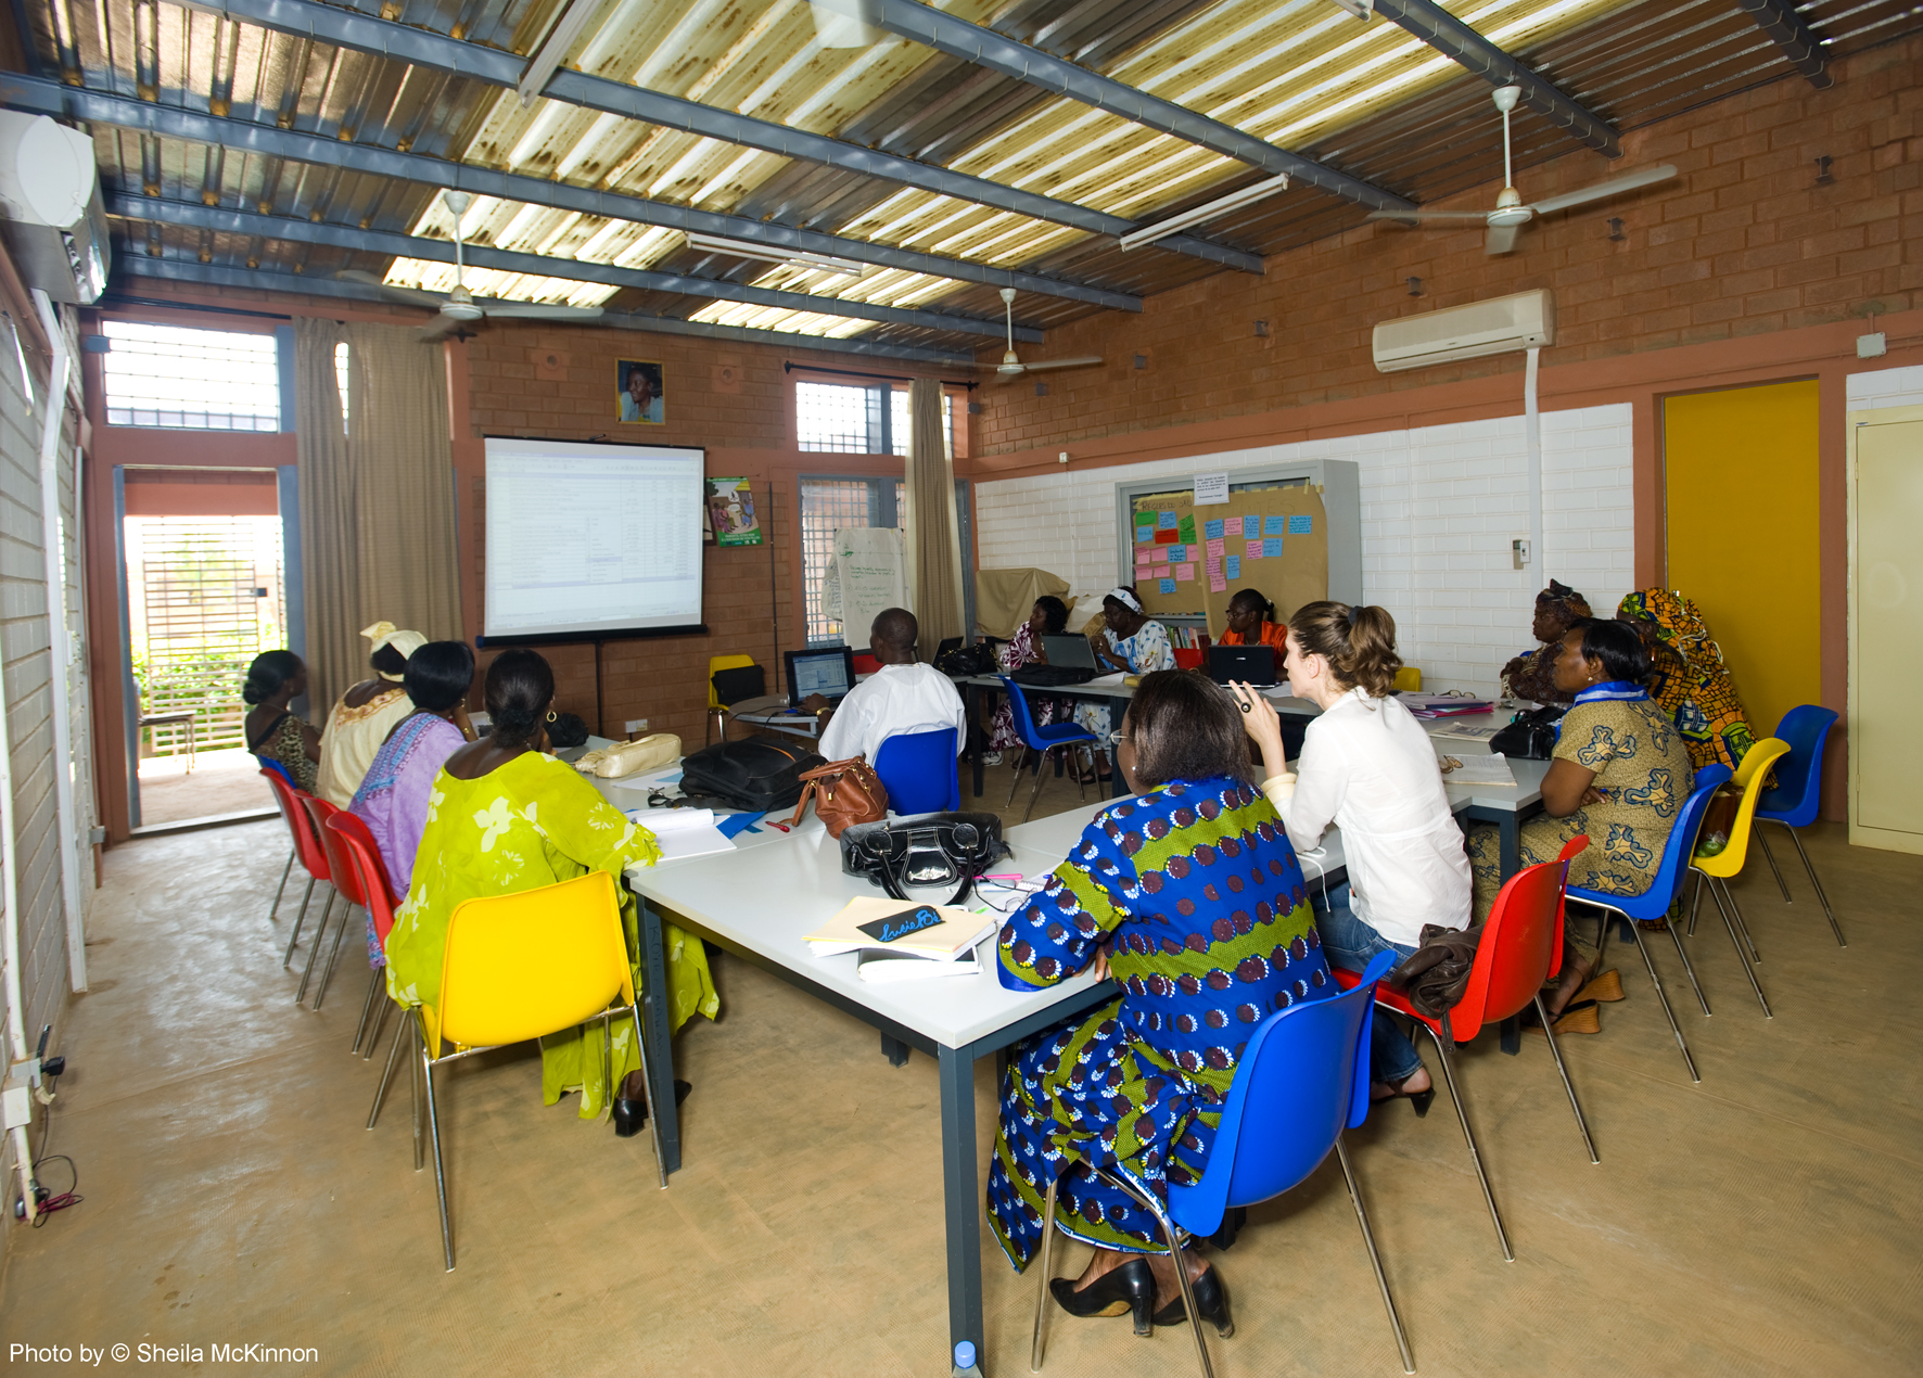
M1229 600L1258 588L1277 621L1321 598L1361 600L1356 465L1229 475L1229 502L1194 504L1194 482L1117 484L1121 567L1150 617L1227 627ZM1217 525L1219 523L1219 525Z

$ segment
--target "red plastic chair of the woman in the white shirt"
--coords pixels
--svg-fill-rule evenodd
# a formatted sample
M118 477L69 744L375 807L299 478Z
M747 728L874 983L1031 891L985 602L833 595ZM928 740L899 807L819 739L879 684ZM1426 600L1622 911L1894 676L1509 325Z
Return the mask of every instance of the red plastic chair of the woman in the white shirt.
M1510 1263L1515 1263L1515 1251L1510 1247L1510 1236L1502 1228L1496 1195L1488 1190L1488 1174L1483 1172L1483 1155L1475 1145L1475 1130L1469 1128L1469 1111L1456 1090L1456 1067L1450 1049L1456 1044L1467 1044L1488 1024L1500 1024L1510 1015L1535 1005L1536 1019L1542 1021L1542 1032L1550 1040L1550 1055L1556 1059L1556 1070L1563 1078L1563 1090L1569 1092L1569 1109L1575 1111L1575 1126L1583 1132L1583 1147L1588 1149L1588 1161L1602 1161L1596 1157L1596 1144L1590 1140L1588 1122L1583 1119L1583 1103L1575 1097L1569 1069L1563 1067L1561 1049L1556 1046L1556 1030L1550 1026L1548 1011L1542 1007L1542 982L1550 978L1550 972L1561 969L1563 886L1569 878L1569 859L1579 855L1586 846L1588 838L1575 838L1563 846L1556 861L1523 867L1502 886L1502 894L1496 896L1496 905L1488 911L1488 921L1483 924L1483 940L1477 944L1475 965L1469 969L1469 986L1463 990L1461 1001L1448 1011L1446 1028L1444 1021L1419 1013L1400 992L1388 986L1375 988L1377 1005L1413 1019L1417 1028L1425 1028L1436 1046L1436 1053L1442 1059L1442 1082L1456 1103L1461 1136L1469 1142L1469 1165L1475 1169L1477 1182L1483 1184L1488 1218L1496 1222L1496 1242L1502 1245L1502 1257ZM1336 971L1335 978L1344 988L1360 980L1360 976L1348 971Z

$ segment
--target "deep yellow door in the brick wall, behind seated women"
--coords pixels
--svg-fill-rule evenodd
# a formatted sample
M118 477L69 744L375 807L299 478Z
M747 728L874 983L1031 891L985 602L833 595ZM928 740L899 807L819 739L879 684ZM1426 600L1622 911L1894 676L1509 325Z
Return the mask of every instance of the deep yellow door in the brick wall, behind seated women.
M1663 402L1667 584L1702 609L1758 738L1823 690L1815 388Z

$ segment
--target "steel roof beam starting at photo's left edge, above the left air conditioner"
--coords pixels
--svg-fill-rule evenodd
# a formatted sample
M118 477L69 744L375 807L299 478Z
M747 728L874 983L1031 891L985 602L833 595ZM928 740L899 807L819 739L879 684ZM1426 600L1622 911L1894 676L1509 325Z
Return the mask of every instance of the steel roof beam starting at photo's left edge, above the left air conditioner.
M888 244L869 244L867 240L821 234L819 231L792 229L788 225L769 225L746 215L717 215L698 211L688 206L669 206L650 202L640 196L621 192L600 192L590 186L554 183L544 177L525 177L521 173L498 173L492 167L473 163L454 163L427 154L402 154L375 144L344 144L327 135L308 135L296 129L279 129L252 119L231 115L204 115L179 106L160 106L131 96L115 96L83 86L63 86L40 77L21 77L0 71L0 102L65 119L85 119L121 129L138 129L152 135L167 135L196 144L219 144L246 154L265 154L273 158L292 158L302 163L321 167L348 167L375 177L394 177L427 186L452 186L477 196L498 196L531 206L552 206L556 209L581 211L585 215L606 215L608 219L633 221L637 225L662 225L679 231L700 231L727 238L756 240L777 248L800 248L812 254L833 254L852 258L860 263L892 267L904 273L927 273L931 277L952 277L963 283L985 283L988 286L1013 286L1023 292L1042 296L1061 296L1073 302L1106 306L1115 311L1140 311L1142 298L1111 288L1090 286L1040 273L971 263L960 258L938 254L919 254L915 250L892 248Z

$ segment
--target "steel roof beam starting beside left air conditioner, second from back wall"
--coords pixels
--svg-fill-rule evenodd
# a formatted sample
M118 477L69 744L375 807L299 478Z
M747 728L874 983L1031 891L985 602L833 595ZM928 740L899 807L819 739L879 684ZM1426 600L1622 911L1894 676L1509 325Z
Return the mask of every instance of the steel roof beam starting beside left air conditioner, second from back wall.
M115 192L108 196L108 215L119 215L129 221L160 221L162 225L208 229L219 234L262 234L265 238L288 240L294 244L325 244L329 248L344 248L354 254L392 254L396 258L419 258L435 263L454 261L454 240L394 234L388 231L363 231L352 225L329 225L325 221L315 223L287 215L254 215L252 211L202 206L200 202L171 202L154 196L127 196ZM1006 334L1002 321L979 315L919 311L898 306L875 306L871 302L844 302L833 296L781 292L765 286L748 286L746 283L690 277L687 273L656 273L648 269L615 267L613 263L590 263L577 258L515 254L512 250L487 248L481 244L469 244L465 256L475 267L490 267L502 273L529 273L533 277L560 277L571 283L633 286L646 292L712 296L723 302L748 302L752 306L813 311L817 315L844 315L856 321L875 321L879 325L912 325L923 331L986 334L996 340ZM1038 344L1042 340L1042 332L1029 325L1017 325L1015 338Z

